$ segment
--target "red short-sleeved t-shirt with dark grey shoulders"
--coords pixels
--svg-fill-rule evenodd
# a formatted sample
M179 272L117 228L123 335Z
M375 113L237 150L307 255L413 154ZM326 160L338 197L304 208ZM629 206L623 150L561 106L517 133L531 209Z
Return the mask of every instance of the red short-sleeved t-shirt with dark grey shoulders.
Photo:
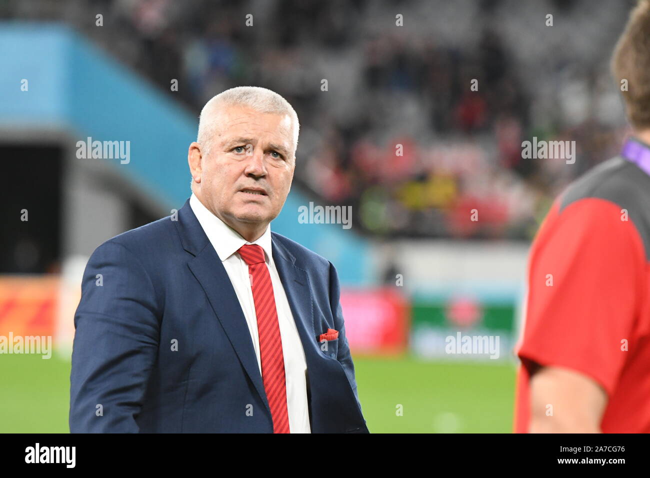
M601 431L650 432L649 244L650 177L625 159L554 202L530 250L515 432L528 431L531 361L600 384Z

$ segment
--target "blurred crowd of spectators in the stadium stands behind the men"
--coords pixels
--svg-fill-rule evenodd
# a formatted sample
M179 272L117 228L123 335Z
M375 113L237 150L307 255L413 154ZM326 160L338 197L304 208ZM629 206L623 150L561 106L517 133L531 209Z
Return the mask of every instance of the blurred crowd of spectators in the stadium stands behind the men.
M65 21L197 115L231 86L276 90L302 126L296 181L367 233L530 239L571 179L617 153L608 61L631 4L9 0L0 17ZM522 159L534 136L576 140L576 163Z

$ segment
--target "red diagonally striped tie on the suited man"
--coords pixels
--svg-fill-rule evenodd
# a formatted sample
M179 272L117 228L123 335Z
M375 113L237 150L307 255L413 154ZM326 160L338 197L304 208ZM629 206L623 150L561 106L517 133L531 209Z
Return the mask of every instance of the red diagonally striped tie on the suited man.
M256 244L243 245L237 251L248 264L253 289L259 356L262 362L262 381L271 409L274 433L289 433L287 386L285 383L284 354L278 325L273 284L264 260L264 249Z

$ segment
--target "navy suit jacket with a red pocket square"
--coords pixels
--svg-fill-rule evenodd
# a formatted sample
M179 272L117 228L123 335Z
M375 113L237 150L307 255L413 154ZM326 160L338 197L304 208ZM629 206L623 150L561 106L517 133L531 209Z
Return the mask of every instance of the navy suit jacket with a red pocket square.
M333 265L277 233L272 250L304 347L311 431L369 432ZM81 290L71 432L273 432L246 319L189 200L100 245ZM339 338L322 351L328 328Z

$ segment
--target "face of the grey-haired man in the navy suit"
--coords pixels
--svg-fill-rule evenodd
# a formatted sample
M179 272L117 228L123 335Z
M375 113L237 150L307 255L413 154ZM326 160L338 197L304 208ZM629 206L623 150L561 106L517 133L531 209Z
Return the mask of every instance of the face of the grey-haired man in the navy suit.
M220 127L211 138L209 155L201 157L197 196L238 232L263 232L291 189L291 117L228 106L217 121Z

